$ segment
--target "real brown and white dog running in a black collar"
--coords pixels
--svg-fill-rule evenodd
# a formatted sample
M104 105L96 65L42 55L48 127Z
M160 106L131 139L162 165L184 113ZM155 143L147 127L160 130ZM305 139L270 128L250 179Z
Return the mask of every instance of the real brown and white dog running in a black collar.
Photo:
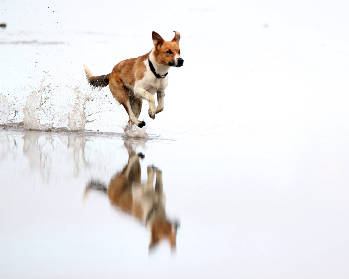
M164 109L169 68L181 67L184 61L179 50L180 34L177 31L173 32L174 38L166 42L153 31L153 50L138 58L121 61L110 74L93 76L91 70L84 65L86 77L91 86L102 88L109 84L114 98L125 107L128 113L129 125L132 123L138 127L146 125L146 122L138 120L142 110L142 99L148 100L148 113L152 119L155 118L156 113ZM155 107L155 93L157 107Z

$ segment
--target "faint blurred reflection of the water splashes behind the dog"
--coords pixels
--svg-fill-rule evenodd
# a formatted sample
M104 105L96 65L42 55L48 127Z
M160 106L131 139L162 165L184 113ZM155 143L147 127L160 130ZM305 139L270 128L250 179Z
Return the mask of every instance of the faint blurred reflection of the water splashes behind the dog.
M0 126L0 161L20 160L18 169L31 174L38 172L45 182L69 180L90 171L95 159L86 156L86 144L95 141L84 134L23 131L13 133ZM96 168L96 166L94 166ZM37 178L39 179L39 178Z

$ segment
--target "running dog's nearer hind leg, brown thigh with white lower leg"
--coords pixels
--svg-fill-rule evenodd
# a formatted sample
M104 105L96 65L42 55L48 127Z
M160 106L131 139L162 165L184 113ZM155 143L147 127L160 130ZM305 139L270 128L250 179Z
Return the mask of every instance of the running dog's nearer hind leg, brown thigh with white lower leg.
M121 105L124 106L128 116L129 116L128 123L133 122L135 125L137 125L140 128L145 126L146 122L139 121L137 119L139 114L140 114L140 110L135 111L137 116L133 112L132 106L130 103L130 99L127 95L127 90L125 88L125 85L124 85L124 83L122 83L121 78L118 75L113 75L110 77L109 88L110 88L110 91L111 91L112 95L114 96L114 98L117 99L117 101Z

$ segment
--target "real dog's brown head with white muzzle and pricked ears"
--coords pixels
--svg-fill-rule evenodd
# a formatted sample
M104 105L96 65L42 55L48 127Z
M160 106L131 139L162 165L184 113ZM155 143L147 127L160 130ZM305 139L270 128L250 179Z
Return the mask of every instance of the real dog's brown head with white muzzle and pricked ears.
M153 42L155 46L154 56L156 62L159 64L181 67L183 66L184 60L180 57L180 34L177 31L173 32L175 35L172 41L166 42L158 33L153 31Z

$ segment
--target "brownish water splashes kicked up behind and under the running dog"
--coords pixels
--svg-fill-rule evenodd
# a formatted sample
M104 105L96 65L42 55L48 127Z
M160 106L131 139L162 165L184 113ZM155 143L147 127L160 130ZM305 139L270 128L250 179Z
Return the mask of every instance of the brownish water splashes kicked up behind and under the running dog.
M0 94L1 126L17 129L20 125L20 129L37 131L81 131L89 123L89 130L114 132L128 120L124 108L109 91L87 91L88 85L77 86L76 79L62 82L59 76L43 73L36 87L28 84L14 89L9 96ZM84 91L88 93L82 93ZM90 123L92 121L94 124ZM122 129L125 137L149 138L146 127L127 125Z

